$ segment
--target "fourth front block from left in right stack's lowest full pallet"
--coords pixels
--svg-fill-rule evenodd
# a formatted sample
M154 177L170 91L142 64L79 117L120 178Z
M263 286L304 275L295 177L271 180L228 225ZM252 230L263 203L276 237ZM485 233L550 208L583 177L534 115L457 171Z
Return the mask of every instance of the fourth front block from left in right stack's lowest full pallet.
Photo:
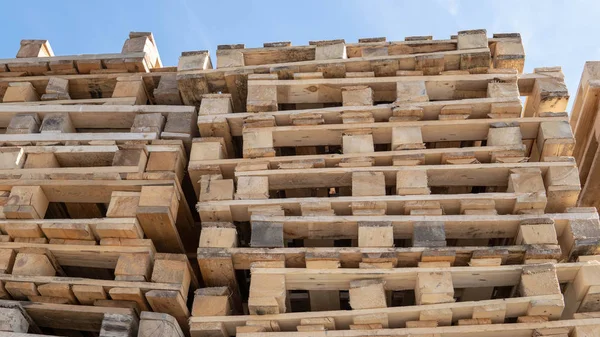
M454 286L450 272L417 273L415 286L417 305L454 302Z

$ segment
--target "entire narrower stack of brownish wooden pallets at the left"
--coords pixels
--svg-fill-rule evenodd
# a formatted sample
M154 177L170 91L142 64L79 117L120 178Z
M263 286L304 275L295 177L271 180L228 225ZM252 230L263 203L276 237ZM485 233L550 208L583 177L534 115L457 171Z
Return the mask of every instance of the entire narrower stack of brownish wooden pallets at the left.
M198 275L185 253L199 229L185 169L197 114L146 105L143 76L162 70L152 34L103 55L55 57L47 41L24 41L0 64L8 331L189 333Z

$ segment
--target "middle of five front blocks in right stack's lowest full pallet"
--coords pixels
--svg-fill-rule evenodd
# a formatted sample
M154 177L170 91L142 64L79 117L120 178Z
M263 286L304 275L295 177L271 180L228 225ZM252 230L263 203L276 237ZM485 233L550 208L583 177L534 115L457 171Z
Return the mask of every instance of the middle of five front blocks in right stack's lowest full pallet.
M386 308L384 284L381 279L351 281L349 296L352 309Z

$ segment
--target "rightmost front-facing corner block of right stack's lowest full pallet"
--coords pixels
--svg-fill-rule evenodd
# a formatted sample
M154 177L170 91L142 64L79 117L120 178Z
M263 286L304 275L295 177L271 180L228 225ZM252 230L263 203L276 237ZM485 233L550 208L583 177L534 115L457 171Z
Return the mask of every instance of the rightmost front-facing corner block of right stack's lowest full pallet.
M556 268L552 264L523 267L519 292L525 297L560 294Z

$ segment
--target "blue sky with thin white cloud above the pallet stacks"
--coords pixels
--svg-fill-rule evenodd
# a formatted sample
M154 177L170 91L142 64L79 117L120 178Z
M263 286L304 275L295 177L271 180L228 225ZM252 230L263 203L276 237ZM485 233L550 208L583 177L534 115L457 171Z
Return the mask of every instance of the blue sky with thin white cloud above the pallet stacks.
M562 66L574 99L583 64L600 59L600 1L6 1L0 58L14 57L21 39L47 39L56 55L120 52L129 31L151 31L166 66L182 51L218 44L411 35L445 39L459 30L519 32L525 71Z

